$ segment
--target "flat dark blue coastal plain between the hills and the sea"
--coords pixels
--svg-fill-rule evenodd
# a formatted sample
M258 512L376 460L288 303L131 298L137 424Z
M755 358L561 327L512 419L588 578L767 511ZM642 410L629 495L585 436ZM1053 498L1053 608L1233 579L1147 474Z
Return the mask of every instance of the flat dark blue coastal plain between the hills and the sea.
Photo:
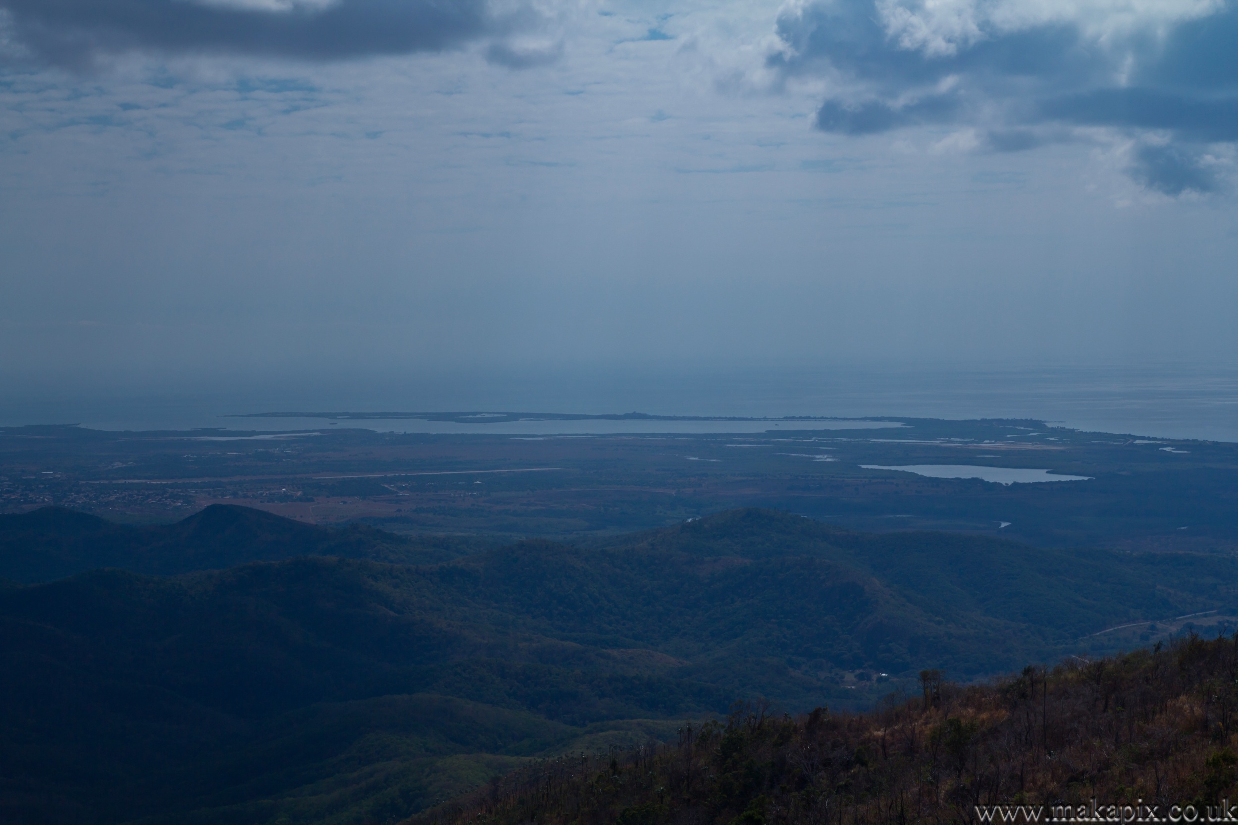
M230 503L313 524L576 541L764 507L867 531L951 530L1132 551L1238 549L1238 445L1228 442L933 419L872 419L852 430L797 430L784 419L742 434L511 435L490 427L514 414L438 415L485 424L467 435L380 432L349 419L282 432L5 427L0 512L54 503L154 523ZM553 420L542 429L553 430ZM966 465L1086 481L1006 484L864 465Z

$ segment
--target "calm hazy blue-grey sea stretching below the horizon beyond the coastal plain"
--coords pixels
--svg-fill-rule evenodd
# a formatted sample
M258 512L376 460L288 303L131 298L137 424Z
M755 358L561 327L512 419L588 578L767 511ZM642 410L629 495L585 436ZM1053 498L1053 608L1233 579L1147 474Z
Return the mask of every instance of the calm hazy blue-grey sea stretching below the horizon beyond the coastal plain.
M1044 370L820 369L787 372L581 372L358 379L335 385L261 385L218 393L97 393L11 389L0 425L82 424L105 430L272 431L329 426L321 419L238 419L267 411L626 412L735 416L1029 417L1060 426L1156 437L1238 442L1238 369L1182 365ZM442 425L355 421L409 432L753 431L709 422L520 422ZM334 429L334 427L333 427Z

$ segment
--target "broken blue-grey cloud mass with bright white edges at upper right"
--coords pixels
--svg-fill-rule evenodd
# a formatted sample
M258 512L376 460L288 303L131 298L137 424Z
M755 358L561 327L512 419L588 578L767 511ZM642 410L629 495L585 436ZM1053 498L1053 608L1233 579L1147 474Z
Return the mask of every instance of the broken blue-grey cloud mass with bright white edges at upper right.
M1171 21L1161 36L1134 26L1104 40L1078 22L1002 30L980 20L968 36L936 48L909 43L889 10L873 0L837 0L779 19L787 48L771 64L787 74L823 74L837 89L816 113L818 129L862 135L972 126L993 151L1035 149L1076 126L1140 140L1167 133L1169 146L1144 142L1135 151L1132 177L1167 194L1218 187L1200 157L1205 144L1238 141L1238 5Z

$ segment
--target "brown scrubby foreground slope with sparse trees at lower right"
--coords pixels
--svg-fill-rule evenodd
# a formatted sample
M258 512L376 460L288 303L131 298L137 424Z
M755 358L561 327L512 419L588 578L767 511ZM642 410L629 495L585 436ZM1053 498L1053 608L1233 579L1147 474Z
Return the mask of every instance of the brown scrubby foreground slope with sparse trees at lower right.
M1188 638L980 686L926 673L920 695L859 716L742 706L661 746L516 772L412 824L903 825L983 821L990 805L1020 824L1093 805L1092 821L1125 805L1221 821L1238 797L1236 673L1238 637Z

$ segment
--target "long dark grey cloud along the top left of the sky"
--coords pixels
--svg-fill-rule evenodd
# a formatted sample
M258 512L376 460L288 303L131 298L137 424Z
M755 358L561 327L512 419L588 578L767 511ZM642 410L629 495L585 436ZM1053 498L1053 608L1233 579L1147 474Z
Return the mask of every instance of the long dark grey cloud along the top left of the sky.
M132 50L331 61L448 48L495 31L487 0L0 0L36 59L88 64Z

